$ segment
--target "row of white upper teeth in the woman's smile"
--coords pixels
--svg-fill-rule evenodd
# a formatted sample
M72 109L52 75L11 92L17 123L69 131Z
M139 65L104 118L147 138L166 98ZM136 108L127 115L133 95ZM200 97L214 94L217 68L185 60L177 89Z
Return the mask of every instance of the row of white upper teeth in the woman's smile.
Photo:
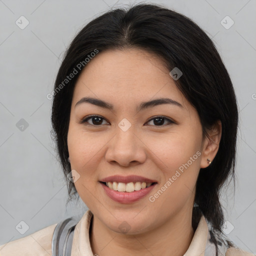
M152 182L129 182L129 183L123 183L123 182L106 182L106 186L108 186L110 189L113 189L115 191L119 192L133 192L134 190L140 190L145 187L148 187L152 184Z

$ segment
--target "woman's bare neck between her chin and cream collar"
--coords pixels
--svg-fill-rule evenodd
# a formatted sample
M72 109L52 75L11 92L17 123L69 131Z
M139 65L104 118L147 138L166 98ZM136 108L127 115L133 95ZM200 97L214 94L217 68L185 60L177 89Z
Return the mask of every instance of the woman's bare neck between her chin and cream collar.
M136 235L117 233L93 216L89 237L94 254L182 256L194 235L192 211L182 210L161 226Z

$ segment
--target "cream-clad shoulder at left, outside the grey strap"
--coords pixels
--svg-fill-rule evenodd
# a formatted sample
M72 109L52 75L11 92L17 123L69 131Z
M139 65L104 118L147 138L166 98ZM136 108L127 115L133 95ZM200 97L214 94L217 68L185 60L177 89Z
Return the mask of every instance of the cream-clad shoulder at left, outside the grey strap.
M51 256L51 240L57 223L0 245L0 256Z

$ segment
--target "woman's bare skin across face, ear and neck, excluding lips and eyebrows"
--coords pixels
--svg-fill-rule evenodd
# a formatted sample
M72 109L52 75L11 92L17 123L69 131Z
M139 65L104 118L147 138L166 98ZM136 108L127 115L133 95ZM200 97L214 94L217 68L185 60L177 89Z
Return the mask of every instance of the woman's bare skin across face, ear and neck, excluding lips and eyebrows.
M177 89L162 60L141 49L107 50L91 59L73 93L67 135L71 168L79 173L75 187L93 213L92 252L98 255L183 255L194 231L191 225L195 184L200 168L218 150L221 123L203 136L196 109ZM184 74L183 74L184 75ZM75 103L84 96L105 100L113 110ZM139 112L141 101L168 97L182 107L161 104ZM102 117L79 123L89 115ZM162 123L152 119L164 116ZM125 132L118 123L126 118ZM91 125L89 125L91 124ZM154 201L154 195L196 152L192 164ZM119 175L141 175L158 184L140 200L123 204L110 199L99 180ZM126 221L130 230L118 226Z

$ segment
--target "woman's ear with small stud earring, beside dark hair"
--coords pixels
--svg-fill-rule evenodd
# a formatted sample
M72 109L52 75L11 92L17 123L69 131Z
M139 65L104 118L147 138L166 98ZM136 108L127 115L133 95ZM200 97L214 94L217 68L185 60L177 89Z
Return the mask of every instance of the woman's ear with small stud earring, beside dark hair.
M207 159L210 159L212 162L215 155L217 154L221 138L221 130L222 125L220 120L217 120L211 129L207 130L207 135L205 135L202 142L202 156L200 163L201 168L209 166Z

